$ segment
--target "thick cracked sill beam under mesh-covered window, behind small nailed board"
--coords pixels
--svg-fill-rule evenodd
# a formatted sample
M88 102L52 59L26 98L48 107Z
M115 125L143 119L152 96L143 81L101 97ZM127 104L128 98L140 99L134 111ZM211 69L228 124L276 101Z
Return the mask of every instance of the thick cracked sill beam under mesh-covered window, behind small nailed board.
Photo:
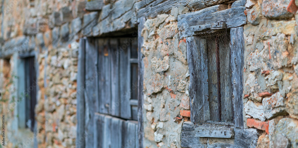
M181 132L181 147L232 147L232 148L254 148L257 146L258 133L256 129L241 129L234 127L234 138L200 138L195 135L192 122L184 122ZM219 128L222 129L222 128ZM207 143L206 143L207 141ZM205 144L203 144L205 143Z

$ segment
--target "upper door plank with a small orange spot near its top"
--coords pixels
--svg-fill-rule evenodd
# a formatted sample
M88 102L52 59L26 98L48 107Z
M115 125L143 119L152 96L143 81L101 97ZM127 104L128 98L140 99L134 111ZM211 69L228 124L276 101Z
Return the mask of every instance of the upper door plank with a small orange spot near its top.
M110 50L108 47L108 40L99 39L99 65L100 68L100 113L110 114L111 111L111 60Z

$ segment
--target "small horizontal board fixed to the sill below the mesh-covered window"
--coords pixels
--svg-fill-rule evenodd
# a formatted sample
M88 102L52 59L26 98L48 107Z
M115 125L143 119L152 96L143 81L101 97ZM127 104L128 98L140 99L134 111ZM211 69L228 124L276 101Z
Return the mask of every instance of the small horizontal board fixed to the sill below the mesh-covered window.
M213 138L233 138L233 128L210 128L210 127L197 127L195 128L196 137L213 137Z

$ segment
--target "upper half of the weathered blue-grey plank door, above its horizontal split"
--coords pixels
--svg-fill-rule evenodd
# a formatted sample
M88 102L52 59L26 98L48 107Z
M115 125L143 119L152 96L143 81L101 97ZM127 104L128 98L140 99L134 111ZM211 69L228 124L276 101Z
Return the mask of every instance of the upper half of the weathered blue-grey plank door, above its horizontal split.
M97 39L99 113L137 120L137 40L132 41Z

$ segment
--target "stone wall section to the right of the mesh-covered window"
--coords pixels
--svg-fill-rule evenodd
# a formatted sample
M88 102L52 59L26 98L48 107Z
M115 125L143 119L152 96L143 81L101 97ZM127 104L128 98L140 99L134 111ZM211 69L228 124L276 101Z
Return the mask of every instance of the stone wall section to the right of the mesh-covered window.
M258 147L297 147L298 32L289 5L295 1L246 3L243 102L246 125L263 130Z

